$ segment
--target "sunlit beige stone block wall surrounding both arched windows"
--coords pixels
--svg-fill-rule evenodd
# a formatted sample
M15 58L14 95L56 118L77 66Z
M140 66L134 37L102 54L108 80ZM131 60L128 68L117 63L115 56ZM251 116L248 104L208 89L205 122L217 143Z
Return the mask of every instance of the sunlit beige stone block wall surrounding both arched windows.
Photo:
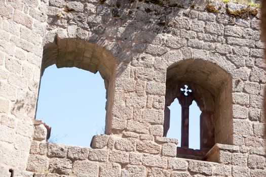
M204 1L0 4L4 176L266 175L259 9L241 18L228 13L243 5ZM105 80L106 135L92 149L47 143L45 126L33 121L40 75L52 64L99 71ZM176 81L198 84L214 100L215 143L223 144L207 161L176 158L178 141L162 137L171 68Z

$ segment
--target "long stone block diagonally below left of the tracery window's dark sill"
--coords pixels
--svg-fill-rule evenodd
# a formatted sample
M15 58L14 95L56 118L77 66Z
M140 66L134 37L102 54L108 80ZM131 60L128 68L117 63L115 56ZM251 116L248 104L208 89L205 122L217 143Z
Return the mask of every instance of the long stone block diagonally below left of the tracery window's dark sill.
M166 168L167 158L159 155L143 154L142 163L146 166Z

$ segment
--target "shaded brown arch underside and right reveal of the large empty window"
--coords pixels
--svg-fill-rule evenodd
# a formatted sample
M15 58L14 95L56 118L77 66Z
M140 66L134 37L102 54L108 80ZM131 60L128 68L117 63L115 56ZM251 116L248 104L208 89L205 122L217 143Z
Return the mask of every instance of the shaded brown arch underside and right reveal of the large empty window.
M110 131L117 59L103 47L79 38L59 38L44 46L41 76L55 64L57 68L77 67L92 73L99 72L106 89L105 133ZM38 118L38 117L35 117Z

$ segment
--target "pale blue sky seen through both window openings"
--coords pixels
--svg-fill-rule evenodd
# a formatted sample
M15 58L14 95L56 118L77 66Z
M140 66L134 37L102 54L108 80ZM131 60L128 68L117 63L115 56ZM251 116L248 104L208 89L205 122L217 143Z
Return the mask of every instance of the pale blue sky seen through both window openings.
M90 147L96 134L104 133L105 87L99 73L78 68L45 69L41 79L36 119L52 127L50 141ZM180 141L181 107L175 101L171 110L167 137ZM199 149L201 111L197 104L189 107L189 147ZM180 144L178 145L180 146Z

